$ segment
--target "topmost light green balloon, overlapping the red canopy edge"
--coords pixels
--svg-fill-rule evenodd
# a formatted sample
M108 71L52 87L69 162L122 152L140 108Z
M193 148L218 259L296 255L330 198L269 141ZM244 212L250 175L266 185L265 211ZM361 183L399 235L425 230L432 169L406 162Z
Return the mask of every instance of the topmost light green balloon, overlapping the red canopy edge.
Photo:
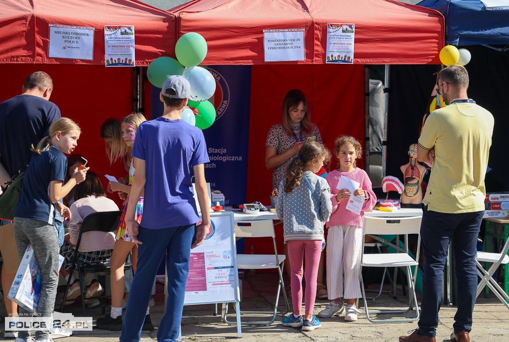
M175 55L183 66L196 66L207 56L207 42L201 34L188 32L177 40Z

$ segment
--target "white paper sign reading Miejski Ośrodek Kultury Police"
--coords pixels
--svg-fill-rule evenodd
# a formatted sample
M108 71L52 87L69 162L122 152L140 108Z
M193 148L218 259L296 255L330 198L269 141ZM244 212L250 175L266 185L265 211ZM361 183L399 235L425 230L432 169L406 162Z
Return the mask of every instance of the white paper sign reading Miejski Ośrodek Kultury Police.
M94 59L94 28L49 25L48 57Z

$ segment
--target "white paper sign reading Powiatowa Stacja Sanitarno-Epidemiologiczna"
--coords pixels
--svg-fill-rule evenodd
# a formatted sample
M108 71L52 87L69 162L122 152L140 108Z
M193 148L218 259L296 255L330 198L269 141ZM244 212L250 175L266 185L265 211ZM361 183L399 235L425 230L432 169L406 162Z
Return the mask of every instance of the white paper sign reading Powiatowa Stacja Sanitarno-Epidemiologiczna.
M265 62L303 61L304 29L263 30Z

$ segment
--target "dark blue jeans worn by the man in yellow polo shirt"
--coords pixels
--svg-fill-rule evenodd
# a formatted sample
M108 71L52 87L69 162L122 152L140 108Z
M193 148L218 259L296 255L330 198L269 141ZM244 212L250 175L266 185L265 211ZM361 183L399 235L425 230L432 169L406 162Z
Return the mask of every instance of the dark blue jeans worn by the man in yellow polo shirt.
M422 303L419 335L435 337L438 311L442 299L442 283L449 243L456 260L458 310L454 317L455 333L472 329L472 311L477 290L477 235L484 211L445 214L423 208L420 236L424 256Z

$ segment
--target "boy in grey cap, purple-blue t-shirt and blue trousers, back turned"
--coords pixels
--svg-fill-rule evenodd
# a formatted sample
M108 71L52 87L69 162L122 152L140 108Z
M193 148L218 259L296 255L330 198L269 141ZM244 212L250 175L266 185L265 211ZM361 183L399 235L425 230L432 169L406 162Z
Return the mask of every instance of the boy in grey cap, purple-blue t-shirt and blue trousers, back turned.
M205 240L210 229L210 201L204 163L209 162L202 130L182 120L191 87L182 76L171 76L163 84L160 99L163 115L139 125L132 149L136 165L125 221L138 244L136 273L124 317L122 342L140 339L152 282L166 252L166 313L157 340L173 341L179 335L191 248ZM196 211L191 183L194 173L202 222ZM134 220L136 203L145 189L143 218Z

